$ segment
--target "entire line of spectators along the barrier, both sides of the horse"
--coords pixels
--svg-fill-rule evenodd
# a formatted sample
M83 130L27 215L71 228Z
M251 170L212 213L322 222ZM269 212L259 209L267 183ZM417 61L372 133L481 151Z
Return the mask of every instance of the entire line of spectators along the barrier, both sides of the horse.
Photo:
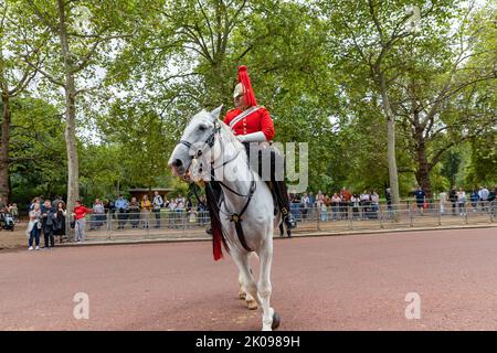
M448 192L443 191L435 199L427 200L422 188L413 193L413 204L420 213L427 207L437 205L441 214L465 215L468 210L473 212L488 212L497 207L497 186L488 190L486 186L474 188L466 192L463 188L452 188ZM390 189L384 190L387 207L391 206ZM339 192L317 194L306 192L300 195L289 194L290 212L299 221L306 218L315 220L316 215L321 221L339 221L353 218L377 218L380 207L380 195L376 190L364 190L362 193L350 192L342 188ZM55 245L54 238L60 242L66 237L66 222L71 222L74 229L74 239L77 243L85 240L86 223L88 231L101 229L108 226L108 221L115 221L117 229L129 228L148 229L160 228L166 220L167 227L184 227L209 223L209 212L205 207L204 195L200 202L192 202L189 197L178 194L168 199L155 191L149 200L144 195L139 201L137 197L127 200L120 194L115 201L96 199L91 207L84 206L76 201L72 212L67 212L66 204L61 196L53 200L43 196L34 197L29 205L29 222L27 237L29 250L40 249L40 239L43 235L44 248L52 249ZM0 199L0 218L10 214L15 222L19 221L19 208L15 203L4 204ZM87 216L89 215L89 216ZM155 224L152 224L155 221Z

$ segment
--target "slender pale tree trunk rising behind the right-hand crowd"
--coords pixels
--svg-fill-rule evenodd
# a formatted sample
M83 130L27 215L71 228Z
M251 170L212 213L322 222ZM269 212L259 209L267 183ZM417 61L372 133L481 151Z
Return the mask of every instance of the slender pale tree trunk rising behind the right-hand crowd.
M395 158L395 117L390 106L389 96L387 93L387 81L383 72L378 72L378 79L380 83L381 100L383 106L383 113L387 117L387 139L388 139L388 160L389 160L389 180L390 192L392 196L393 210L400 203L399 197L399 173L396 170Z

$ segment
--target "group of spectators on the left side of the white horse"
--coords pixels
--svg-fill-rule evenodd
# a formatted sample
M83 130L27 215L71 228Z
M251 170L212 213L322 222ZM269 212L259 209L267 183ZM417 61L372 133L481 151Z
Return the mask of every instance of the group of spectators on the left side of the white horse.
M55 246L55 236L60 237L62 243L66 237L66 222L71 222L71 228L74 229L74 239L76 243L85 240L86 223L88 222L88 231L99 229L107 224L108 217L117 221L117 229L124 229L129 223L131 228L150 228L152 214L155 214L156 228L159 228L160 220L163 213L168 214L168 220L172 220L168 225L179 226L180 220L186 217L190 224L208 222L208 212L204 207L204 196L197 207L192 202L181 194L177 197L168 200L162 197L157 191L152 201L144 195L140 201L131 197L130 201L120 194L115 201L102 201L96 199L91 207L86 207L81 201L75 202L75 206L71 213L66 210L66 204L61 196L55 196L53 201L44 199L43 195L34 197L29 207L29 222L27 227L27 236L29 238L29 250L40 249L40 239L43 235L44 249L52 249ZM0 210L6 208L0 204ZM7 212L7 208L6 208ZM9 206L9 212L12 207ZM19 214L15 213L14 214ZM89 215L89 216L87 216ZM172 216L171 216L172 215Z

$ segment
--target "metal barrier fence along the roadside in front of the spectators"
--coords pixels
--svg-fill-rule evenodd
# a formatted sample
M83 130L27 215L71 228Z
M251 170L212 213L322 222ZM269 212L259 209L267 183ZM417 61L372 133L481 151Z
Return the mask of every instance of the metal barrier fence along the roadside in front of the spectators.
M402 227L436 227L450 225L483 225L495 222L497 202L478 204L431 203L417 205L362 204L330 205L321 208L290 205L298 226L293 233L348 232ZM147 239L210 237L208 211L161 208L139 213L115 212L89 214L85 222L86 239ZM275 231L278 235L279 231ZM74 238L74 229L72 237Z

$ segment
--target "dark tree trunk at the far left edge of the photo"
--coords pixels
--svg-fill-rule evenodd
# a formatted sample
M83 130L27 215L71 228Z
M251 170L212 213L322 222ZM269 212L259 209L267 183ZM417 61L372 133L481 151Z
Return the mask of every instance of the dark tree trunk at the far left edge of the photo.
M0 140L0 199L10 202L9 143L10 143L10 106L9 96L2 94L2 125Z

